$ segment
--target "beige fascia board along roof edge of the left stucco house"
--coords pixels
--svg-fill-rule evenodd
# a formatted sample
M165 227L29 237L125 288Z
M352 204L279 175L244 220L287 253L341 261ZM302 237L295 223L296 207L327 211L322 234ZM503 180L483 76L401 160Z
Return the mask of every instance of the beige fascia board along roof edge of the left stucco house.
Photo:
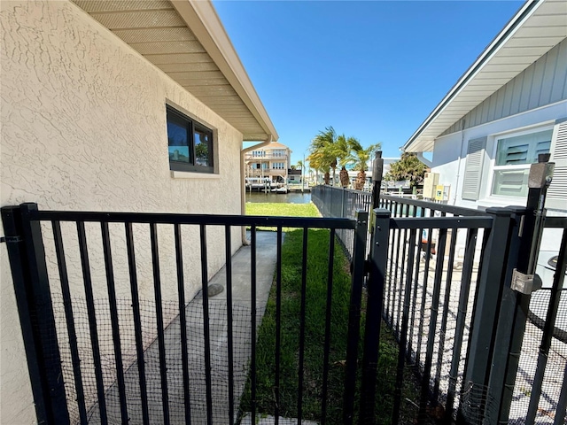
M237 95L252 112L254 118L258 120L260 127L268 135L264 139L270 138L276 141L279 137L276 128L270 120L256 89L254 89L245 67L238 58L237 50L230 42L229 35L227 35L219 15L214 10L214 5L210 1L198 0L171 0L171 4L185 21L187 27L190 27L198 42L213 58L216 66L219 67ZM244 135L244 138L246 140L246 135Z

